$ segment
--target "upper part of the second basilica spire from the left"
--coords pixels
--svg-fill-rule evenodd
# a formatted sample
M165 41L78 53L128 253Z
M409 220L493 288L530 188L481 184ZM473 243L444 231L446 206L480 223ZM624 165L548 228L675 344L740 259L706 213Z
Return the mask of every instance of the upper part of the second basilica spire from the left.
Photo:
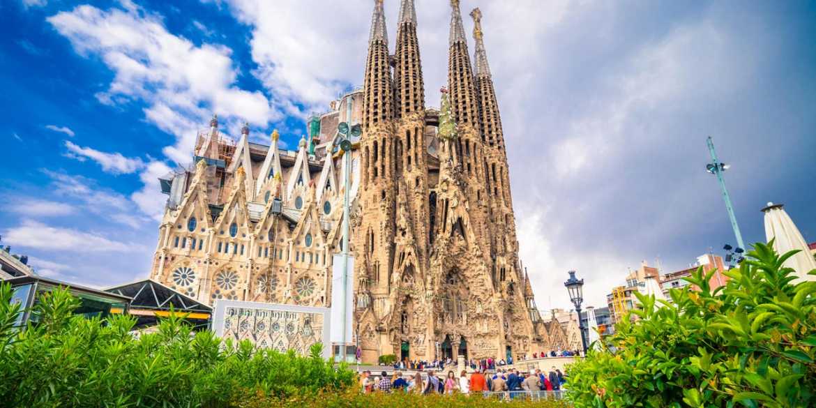
M394 82L397 117L425 110L425 84L422 78L422 60L416 36L414 0L402 0L397 28L397 64Z

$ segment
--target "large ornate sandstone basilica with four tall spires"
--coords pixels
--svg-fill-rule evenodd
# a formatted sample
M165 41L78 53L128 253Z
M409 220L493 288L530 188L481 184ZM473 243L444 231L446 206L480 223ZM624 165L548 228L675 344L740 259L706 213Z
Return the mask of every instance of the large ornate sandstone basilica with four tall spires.
M216 299L330 306L341 251L340 122L351 150L354 334L363 361L517 358L573 342L545 323L518 258L499 104L474 20L473 63L451 0L448 84L425 104L413 0L401 0L391 54L375 0L365 82L309 119L295 151L238 140L217 118L199 133L194 169L161 180L169 194L153 280Z

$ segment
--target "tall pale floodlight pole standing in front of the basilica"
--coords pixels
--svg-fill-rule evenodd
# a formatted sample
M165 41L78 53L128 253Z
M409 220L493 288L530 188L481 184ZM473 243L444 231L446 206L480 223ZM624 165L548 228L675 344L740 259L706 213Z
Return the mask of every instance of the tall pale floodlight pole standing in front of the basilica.
M339 142L339 148L343 151L343 164L344 164L344 175L343 175L343 341L340 344L340 355L343 356L343 361L348 361L348 356L346 352L346 333L348 333L348 327L346 327L346 313L348 313L347 308L347 299L348 296L351 294L348 293L348 205L350 202L349 197L349 189L351 184L351 172L352 172L352 136L359 137L362 133L362 128L360 124L355 124L349 126L352 118L352 104L351 104L351 97L349 96L349 100L346 101L346 122L340 122L337 125L337 132L339 135L342 135L342 139ZM357 350L355 350L357 353Z

